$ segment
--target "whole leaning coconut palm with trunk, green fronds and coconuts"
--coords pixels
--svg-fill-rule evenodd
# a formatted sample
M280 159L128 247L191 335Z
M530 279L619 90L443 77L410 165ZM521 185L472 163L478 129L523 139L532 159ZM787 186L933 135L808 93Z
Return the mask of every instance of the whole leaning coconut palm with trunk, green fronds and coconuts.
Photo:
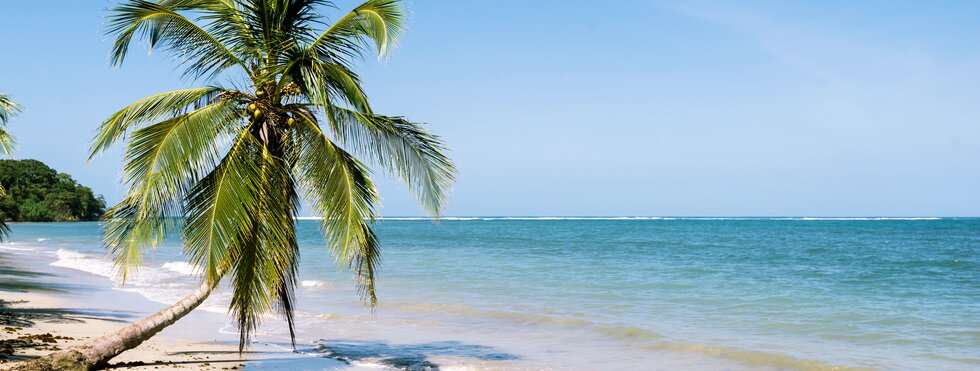
M401 179L431 215L439 214L455 169L437 136L376 113L353 71L362 56L392 50L401 3L368 0L318 29L324 6L332 4L128 0L111 10L114 65L137 39L175 54L185 76L234 81L139 100L103 122L92 143L95 156L127 141L129 192L103 227L123 279L145 250L179 233L185 255L203 271L201 286L119 332L38 362L104 365L189 313L226 276L239 350L270 311L293 334L301 196L323 218L329 250L376 304L378 192L362 159Z

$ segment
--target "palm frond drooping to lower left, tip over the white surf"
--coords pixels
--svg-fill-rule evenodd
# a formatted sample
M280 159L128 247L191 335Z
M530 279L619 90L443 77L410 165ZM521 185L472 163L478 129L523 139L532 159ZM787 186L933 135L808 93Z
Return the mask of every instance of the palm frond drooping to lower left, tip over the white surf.
M130 192L109 210L103 227L123 280L141 264L141 250L178 225L185 193L214 168L240 112L235 102L222 100L133 132L123 168Z

